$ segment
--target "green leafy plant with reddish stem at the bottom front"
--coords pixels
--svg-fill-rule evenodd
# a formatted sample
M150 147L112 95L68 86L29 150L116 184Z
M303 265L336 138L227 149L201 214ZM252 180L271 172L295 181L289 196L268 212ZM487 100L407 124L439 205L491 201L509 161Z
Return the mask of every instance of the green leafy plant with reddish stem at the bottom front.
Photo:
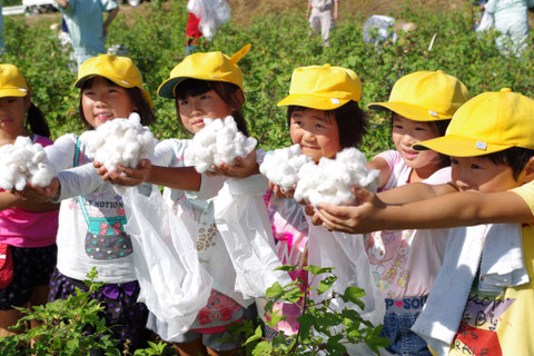
M279 270L295 271L296 266L283 266ZM248 330L248 339L244 344L247 354L253 356L261 355L317 355L323 352L325 355L345 355L348 344L365 343L377 355L378 348L385 347L389 340L379 337L382 325L374 326L364 319L356 308L344 307L342 310L332 306L334 299L342 299L344 303L352 303L364 309L362 297L365 291L358 287L349 286L344 294L332 293L332 296L310 298L316 294L318 297L332 289L337 277L332 273L333 268L317 266L304 267L312 278L303 280L297 277L286 286L275 283L267 289L266 296L269 301L266 304L267 325L275 327L285 317L273 312L276 301L294 303L300 306L301 315L297 318L299 328L296 335L285 336L279 332L274 339L264 337L261 326L255 330ZM319 275L323 279L313 287ZM320 299L320 300L318 300ZM244 333L246 325L239 325L235 332Z

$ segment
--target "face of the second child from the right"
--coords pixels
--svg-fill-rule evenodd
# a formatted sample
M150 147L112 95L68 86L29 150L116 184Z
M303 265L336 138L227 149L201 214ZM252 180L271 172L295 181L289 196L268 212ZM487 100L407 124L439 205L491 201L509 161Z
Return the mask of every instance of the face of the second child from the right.
M413 169L435 169L439 166L439 157L433 150L417 151L412 148L415 144L436 138L438 134L431 122L415 121L394 113L393 142L406 165Z

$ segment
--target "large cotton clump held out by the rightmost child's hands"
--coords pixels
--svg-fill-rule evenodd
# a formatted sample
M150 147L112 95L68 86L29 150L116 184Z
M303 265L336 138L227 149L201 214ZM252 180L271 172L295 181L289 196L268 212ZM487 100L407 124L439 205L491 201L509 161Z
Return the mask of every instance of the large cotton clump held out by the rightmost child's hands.
M367 159L356 148L346 148L336 159L323 157L319 162L308 162L298 171L295 200L306 200L313 206L319 202L348 205L354 201L353 185L376 190L378 170L365 167Z

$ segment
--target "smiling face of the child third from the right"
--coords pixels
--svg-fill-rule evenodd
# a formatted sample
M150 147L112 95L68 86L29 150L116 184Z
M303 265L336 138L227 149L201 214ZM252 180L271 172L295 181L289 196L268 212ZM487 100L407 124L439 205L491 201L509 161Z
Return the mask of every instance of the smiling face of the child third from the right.
M339 131L334 117L324 110L294 111L289 123L293 144L298 144L304 155L318 162L322 157L333 158L342 150Z

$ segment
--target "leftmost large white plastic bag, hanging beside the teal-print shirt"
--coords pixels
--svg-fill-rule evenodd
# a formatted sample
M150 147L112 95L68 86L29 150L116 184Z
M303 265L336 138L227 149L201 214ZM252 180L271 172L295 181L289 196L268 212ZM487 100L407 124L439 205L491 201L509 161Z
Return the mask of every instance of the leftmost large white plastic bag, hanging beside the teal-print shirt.
M157 186L147 196L139 188L122 195L141 288L138 301L151 313L147 327L170 339L187 332L206 306L212 279L198 261L195 221L186 212L172 214Z

